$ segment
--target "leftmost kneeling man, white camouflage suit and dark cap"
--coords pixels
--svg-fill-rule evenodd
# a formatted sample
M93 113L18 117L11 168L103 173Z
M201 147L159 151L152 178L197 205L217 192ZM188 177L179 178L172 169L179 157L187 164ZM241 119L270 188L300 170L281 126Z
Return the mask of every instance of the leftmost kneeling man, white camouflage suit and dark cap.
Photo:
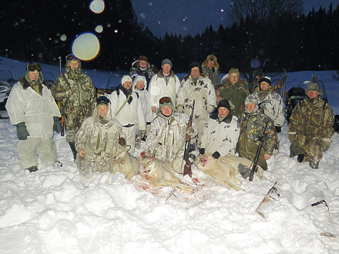
M97 98L93 116L86 118L76 133L76 166L85 177L96 171L110 172L113 149L117 143L126 145L121 124L111 116L110 104L106 96Z

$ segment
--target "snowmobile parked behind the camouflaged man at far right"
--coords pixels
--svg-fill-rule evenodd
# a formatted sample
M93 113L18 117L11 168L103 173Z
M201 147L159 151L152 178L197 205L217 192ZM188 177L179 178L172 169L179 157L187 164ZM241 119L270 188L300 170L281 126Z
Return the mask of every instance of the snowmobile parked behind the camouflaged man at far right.
M318 83L323 95L320 96L326 103L328 103L328 97L325 91L325 85L323 81L317 80L316 76L313 75L313 81L302 81L298 84L298 87L293 86L290 90L285 92L285 108L286 108L286 120L290 123L290 115L292 114L293 109L300 101L303 101L307 98L306 88L309 83Z

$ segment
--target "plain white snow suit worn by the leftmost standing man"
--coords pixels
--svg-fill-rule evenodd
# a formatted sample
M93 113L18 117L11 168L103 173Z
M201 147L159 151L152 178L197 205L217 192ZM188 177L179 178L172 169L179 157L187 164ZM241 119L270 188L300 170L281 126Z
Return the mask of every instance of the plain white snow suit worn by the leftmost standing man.
M32 88L27 77L19 78L6 103L11 124L24 122L30 135L26 140L19 140L16 147L23 169L37 166L36 151L46 165L52 165L58 158L53 140L53 117L60 117L61 114L49 88L43 83L41 85L42 96Z

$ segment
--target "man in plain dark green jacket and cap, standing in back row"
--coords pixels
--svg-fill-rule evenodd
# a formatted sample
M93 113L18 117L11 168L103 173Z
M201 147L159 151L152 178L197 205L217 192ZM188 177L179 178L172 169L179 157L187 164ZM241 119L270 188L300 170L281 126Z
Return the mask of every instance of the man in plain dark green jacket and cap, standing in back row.
M226 98L231 104L231 113L241 119L241 114L245 112L245 100L250 94L247 88L247 81L239 78L238 68L231 68L228 78L221 81L216 91L216 103Z

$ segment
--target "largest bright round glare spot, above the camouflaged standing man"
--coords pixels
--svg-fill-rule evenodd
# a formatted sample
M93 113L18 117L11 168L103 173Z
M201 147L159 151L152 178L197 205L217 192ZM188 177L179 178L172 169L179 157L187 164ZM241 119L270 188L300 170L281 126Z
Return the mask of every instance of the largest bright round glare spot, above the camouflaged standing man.
M81 34L75 39L72 52L76 57L82 60L91 60L98 54L100 49L98 38L94 34Z

